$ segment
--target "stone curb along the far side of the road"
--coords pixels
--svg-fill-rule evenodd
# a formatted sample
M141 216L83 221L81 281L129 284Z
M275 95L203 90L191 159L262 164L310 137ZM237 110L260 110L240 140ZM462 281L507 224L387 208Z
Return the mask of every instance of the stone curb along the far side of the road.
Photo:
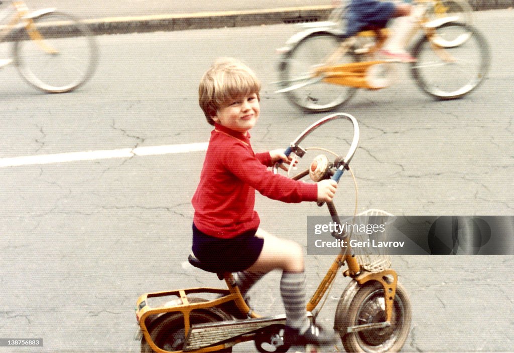
M473 10L507 9L514 0L469 0ZM108 17L84 21L95 34L180 31L324 21L332 6L309 6L253 11L198 12L134 17Z

